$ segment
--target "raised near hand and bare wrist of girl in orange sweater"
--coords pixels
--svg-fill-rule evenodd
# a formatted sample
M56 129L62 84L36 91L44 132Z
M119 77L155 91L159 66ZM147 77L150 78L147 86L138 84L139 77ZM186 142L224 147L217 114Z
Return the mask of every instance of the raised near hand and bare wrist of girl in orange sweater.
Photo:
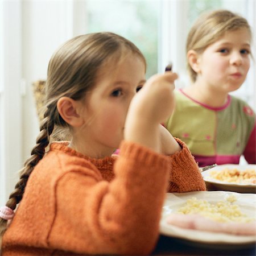
M162 153L159 123L174 109L176 73L152 76L131 101L125 123L125 139Z

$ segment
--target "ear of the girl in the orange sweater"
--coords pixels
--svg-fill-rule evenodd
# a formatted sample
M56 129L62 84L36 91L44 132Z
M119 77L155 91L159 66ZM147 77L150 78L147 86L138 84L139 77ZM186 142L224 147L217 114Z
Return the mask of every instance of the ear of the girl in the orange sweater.
M77 101L69 97L61 97L57 101L57 110L63 120L73 127L79 127L83 123L83 119L79 114L79 104Z

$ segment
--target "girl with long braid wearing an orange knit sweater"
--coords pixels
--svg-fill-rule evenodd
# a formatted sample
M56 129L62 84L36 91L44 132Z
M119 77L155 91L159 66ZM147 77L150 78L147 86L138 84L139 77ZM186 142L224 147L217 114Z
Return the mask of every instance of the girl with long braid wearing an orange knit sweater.
M0 211L3 256L148 254L165 193L205 190L187 146L159 125L177 75L145 81L145 70L139 49L109 32L54 53L36 146ZM71 141L45 153L56 127Z

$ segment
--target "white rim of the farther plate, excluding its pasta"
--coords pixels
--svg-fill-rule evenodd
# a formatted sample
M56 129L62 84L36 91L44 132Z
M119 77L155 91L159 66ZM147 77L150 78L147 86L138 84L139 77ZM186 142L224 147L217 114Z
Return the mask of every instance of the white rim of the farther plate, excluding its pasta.
M222 171L225 168L229 169L237 169L240 171L245 170L256 170L256 164L247 164L247 165L239 165L239 164L222 164L221 166L216 166L210 170L202 172L202 176L207 185L208 190L224 190L224 191L234 191L240 193L256 193L256 184L243 184L243 183L230 183L227 181L221 181L210 177L210 173L212 171Z

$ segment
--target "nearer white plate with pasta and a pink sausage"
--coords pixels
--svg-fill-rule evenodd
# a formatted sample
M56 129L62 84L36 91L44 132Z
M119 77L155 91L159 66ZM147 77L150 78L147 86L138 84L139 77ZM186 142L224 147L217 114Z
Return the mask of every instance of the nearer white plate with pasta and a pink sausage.
M160 233L204 246L255 246L256 195L230 191L167 193Z

